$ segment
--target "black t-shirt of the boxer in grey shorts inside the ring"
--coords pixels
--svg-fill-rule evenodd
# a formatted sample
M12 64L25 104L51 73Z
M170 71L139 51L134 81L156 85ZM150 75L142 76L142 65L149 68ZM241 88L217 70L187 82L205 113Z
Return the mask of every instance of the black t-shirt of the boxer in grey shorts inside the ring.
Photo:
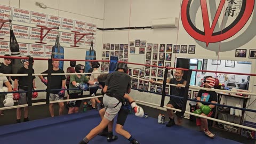
M127 87L131 85L131 77L124 72L115 71L108 75L106 85L108 86L107 95L124 102L124 94L127 92Z

